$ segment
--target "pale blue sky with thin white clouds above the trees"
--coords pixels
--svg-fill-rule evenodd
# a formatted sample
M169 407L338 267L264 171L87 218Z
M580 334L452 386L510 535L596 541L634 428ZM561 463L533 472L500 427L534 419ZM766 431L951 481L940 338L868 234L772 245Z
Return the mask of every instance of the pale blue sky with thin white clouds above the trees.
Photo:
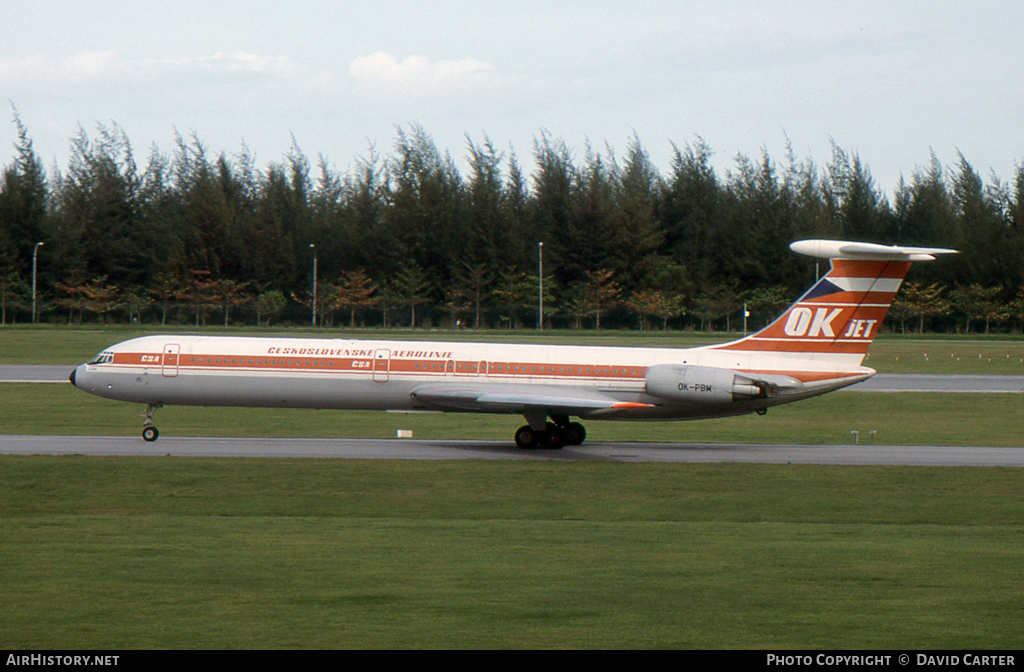
M48 170L97 124L139 164L179 133L260 167L294 138L338 170L418 124L463 169L486 136L531 172L548 132L581 160L635 136L663 174L702 138L722 175L835 142L890 195L932 153L1007 181L1022 26L1004 1L0 0L0 164L13 106Z

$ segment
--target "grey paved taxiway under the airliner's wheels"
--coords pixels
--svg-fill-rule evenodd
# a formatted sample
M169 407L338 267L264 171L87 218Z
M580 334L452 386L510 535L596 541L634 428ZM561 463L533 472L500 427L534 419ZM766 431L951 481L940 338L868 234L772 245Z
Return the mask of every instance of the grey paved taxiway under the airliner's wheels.
M743 462L906 466L1024 467L1024 447L800 446L793 444L587 443L559 451L523 451L511 442L361 438L204 438L167 436L0 436L4 455L335 458L370 460L550 460L599 462Z

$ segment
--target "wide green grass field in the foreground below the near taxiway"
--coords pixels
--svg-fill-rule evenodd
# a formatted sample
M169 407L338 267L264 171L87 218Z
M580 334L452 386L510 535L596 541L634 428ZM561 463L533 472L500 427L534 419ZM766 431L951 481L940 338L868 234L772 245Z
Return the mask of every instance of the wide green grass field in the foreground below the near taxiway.
M0 466L7 648L1021 644L1019 469Z

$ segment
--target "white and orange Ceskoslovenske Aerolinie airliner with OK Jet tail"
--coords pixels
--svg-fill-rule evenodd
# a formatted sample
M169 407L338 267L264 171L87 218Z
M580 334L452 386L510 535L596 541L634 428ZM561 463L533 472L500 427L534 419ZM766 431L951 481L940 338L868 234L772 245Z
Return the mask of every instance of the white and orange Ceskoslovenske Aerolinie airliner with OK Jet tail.
M578 446L584 420L764 414L860 382L867 347L910 267L954 250L800 241L828 272L745 338L693 348L344 338L144 336L78 367L92 394L146 405L507 413L520 448Z

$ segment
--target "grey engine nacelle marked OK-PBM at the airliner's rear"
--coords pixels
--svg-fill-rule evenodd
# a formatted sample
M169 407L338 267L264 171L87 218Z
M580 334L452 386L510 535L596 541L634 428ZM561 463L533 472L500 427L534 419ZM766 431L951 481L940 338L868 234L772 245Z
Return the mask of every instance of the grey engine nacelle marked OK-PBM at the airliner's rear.
M658 364L647 369L647 393L674 402L731 404L774 396L774 386L748 375L714 367Z

